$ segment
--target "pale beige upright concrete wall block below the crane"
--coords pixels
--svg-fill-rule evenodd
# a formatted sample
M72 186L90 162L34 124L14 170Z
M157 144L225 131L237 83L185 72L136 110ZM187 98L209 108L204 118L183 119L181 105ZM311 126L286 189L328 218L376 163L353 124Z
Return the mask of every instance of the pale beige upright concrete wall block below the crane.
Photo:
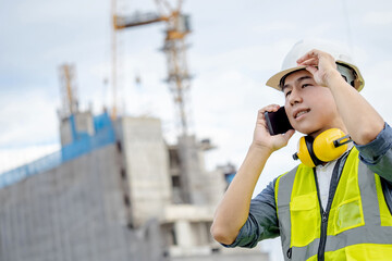
M158 119L123 117L120 124L133 224L139 226L161 217L171 201L168 148Z

